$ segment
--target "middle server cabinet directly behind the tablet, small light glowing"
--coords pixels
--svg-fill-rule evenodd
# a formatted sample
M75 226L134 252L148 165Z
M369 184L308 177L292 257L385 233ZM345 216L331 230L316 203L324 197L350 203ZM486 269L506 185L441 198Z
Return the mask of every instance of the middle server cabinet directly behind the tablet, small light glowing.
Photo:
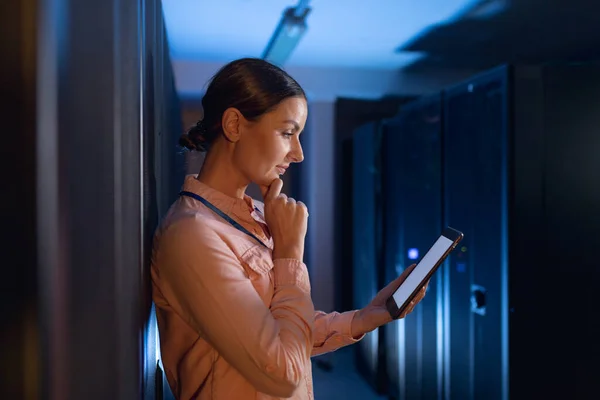
M402 106L384 125L382 192L385 282L420 259L441 232L441 96ZM435 399L441 389L442 274L406 319L382 329L388 394Z

